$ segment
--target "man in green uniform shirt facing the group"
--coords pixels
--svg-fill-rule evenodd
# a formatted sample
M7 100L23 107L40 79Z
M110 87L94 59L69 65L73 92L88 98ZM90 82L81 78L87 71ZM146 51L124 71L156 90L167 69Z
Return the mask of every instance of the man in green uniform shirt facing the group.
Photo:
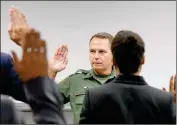
M70 102L75 124L79 123L85 90L101 86L115 78L113 57L110 48L112 39L112 35L105 32L92 36L89 44L89 58L92 69L80 69L58 84L58 89L63 95L64 103ZM55 78L57 73L54 69L52 69L53 74L51 73L53 78Z

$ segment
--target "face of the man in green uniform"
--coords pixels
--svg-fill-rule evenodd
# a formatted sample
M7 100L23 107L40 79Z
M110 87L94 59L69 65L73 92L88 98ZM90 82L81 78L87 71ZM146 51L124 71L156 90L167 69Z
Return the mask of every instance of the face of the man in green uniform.
M109 39L95 37L89 47L90 64L97 73L112 69L113 56Z

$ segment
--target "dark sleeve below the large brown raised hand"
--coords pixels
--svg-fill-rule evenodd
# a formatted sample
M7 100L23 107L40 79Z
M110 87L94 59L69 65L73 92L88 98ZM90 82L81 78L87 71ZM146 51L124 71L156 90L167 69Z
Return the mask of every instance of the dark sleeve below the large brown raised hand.
M53 80L38 77L25 83L24 88L36 123L66 124L62 110L62 97Z

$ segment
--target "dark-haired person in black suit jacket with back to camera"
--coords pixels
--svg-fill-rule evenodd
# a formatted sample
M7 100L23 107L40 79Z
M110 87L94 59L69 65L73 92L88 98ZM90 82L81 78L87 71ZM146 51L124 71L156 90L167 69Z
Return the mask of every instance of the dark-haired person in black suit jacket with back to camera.
M171 93L153 88L140 76L145 44L135 32L122 30L111 50L116 72L113 81L86 92L80 124L175 124Z

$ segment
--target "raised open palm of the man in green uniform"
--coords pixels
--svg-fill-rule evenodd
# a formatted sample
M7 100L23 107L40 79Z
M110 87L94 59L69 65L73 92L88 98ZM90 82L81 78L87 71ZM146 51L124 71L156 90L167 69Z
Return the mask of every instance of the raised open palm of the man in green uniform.
M57 72L64 70L68 64L68 47L62 45L58 47L49 62L49 76L55 78Z

